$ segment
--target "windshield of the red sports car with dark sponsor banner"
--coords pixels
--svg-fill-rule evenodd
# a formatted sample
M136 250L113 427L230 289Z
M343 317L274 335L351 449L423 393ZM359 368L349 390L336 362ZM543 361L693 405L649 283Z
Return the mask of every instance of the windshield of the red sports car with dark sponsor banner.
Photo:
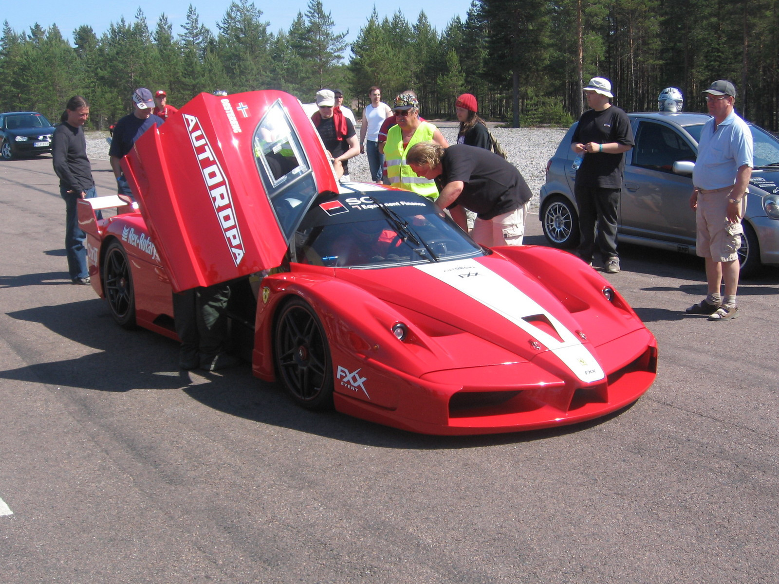
M391 210L390 213L387 211ZM484 255L448 217L418 195L374 192L314 206L295 234L300 263L386 268Z

